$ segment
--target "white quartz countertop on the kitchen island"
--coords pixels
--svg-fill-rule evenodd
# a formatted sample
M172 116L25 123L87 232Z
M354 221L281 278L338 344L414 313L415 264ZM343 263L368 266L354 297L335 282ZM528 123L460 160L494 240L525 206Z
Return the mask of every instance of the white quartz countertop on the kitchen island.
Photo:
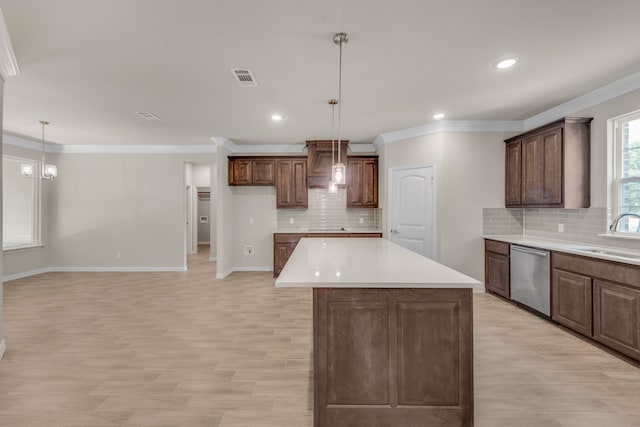
M303 238L277 287L472 288L477 280L386 239Z

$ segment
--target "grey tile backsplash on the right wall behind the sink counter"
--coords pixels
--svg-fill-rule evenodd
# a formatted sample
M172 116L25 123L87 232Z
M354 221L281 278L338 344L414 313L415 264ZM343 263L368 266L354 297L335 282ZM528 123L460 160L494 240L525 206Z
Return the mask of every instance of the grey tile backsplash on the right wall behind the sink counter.
M563 232L558 231L562 224ZM524 235L570 242L640 249L640 240L602 237L607 232L607 208L588 209L505 209L482 210L485 235Z

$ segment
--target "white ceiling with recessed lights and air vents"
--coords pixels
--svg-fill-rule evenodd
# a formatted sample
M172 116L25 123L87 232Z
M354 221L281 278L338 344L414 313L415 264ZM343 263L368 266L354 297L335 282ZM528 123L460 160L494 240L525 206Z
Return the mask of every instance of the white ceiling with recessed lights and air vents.
M0 0L4 129L61 144L294 144L522 120L640 70L638 0ZM517 55L508 71L493 64ZM251 68L255 88L230 68ZM135 111L149 111L159 122ZM284 116L280 123L271 114Z

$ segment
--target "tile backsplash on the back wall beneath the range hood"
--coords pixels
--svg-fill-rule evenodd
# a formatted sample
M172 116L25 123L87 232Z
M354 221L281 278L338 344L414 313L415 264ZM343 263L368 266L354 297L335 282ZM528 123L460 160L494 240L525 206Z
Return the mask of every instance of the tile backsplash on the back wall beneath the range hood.
M347 190L309 189L308 209L278 209L278 230L378 229L380 209L348 208ZM291 220L293 219L293 223ZM361 223L362 222L362 223Z

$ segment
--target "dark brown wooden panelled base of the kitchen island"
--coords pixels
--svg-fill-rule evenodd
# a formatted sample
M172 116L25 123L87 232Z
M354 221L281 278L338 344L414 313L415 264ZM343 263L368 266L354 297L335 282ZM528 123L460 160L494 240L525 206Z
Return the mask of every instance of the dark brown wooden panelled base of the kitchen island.
M314 426L473 425L470 289L313 292Z

